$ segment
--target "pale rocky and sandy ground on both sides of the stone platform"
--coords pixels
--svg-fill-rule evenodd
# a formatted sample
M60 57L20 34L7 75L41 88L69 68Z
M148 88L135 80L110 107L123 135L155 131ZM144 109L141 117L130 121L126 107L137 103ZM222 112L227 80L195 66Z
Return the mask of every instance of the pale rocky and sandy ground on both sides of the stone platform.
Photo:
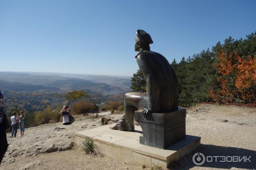
M104 156L85 154L73 142L75 132L116 122L121 116L107 115L103 119L88 119L93 115L76 116L72 125L65 126L59 122L31 127L26 129L25 136L17 138L9 138L11 135L7 133L10 145L0 170L142 169ZM194 153L201 152L205 156L251 156L251 162L207 162L196 166L192 162L192 153L173 164L170 169L256 169L256 108L223 105L189 108L186 133L201 136L201 147Z

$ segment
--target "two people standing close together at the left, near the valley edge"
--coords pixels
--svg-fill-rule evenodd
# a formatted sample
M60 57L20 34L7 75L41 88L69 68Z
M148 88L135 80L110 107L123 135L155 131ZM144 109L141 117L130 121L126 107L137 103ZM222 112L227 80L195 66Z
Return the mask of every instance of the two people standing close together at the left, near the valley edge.
M24 136L25 128L24 128L24 119L26 114L24 111L20 111L20 115L16 112L12 113L11 122L12 122L12 136L11 138L15 138L17 134L18 125L20 126L20 135Z

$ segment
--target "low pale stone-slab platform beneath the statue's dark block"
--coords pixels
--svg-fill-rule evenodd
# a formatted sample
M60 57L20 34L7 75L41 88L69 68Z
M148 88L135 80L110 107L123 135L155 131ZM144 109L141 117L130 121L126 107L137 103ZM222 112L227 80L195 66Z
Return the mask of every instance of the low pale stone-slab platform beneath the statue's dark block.
M135 126L134 132L110 130L105 125L75 133L76 144L81 145L84 139L93 141L96 151L111 159L126 163L154 165L166 168L169 164L193 152L200 145L201 137L186 135L186 138L172 144L165 150L140 144L142 129Z

